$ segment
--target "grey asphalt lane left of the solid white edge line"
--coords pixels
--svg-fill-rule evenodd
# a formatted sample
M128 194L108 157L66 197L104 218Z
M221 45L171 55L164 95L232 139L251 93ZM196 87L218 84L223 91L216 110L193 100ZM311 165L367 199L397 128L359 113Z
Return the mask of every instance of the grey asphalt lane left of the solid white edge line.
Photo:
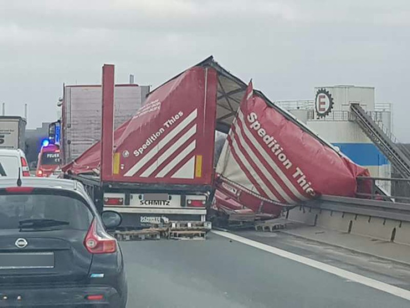
M210 234L121 242L128 307L409 307L410 301Z

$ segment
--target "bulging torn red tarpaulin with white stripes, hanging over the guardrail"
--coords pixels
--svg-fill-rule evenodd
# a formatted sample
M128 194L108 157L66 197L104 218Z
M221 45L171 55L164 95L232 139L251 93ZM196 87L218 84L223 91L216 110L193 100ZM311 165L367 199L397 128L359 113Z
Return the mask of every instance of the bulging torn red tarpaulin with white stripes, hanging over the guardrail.
M253 91L252 83L232 123L216 172L218 189L264 213L278 213L279 204L298 204L320 195L354 197L356 178L369 176L367 169L269 106Z

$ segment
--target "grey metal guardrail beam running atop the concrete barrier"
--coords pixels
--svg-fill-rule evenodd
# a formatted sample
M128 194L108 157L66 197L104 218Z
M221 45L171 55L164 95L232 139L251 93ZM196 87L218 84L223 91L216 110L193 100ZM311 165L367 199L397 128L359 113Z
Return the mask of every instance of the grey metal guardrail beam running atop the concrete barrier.
M306 203L306 206L342 213L410 222L410 205L407 203L322 196L320 199Z

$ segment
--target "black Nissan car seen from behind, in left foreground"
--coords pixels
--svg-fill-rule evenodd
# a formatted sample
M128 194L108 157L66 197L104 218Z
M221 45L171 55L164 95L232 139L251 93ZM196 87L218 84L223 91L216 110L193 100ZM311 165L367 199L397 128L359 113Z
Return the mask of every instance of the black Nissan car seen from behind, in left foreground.
M0 307L119 307L121 249L84 187L71 180L0 178Z

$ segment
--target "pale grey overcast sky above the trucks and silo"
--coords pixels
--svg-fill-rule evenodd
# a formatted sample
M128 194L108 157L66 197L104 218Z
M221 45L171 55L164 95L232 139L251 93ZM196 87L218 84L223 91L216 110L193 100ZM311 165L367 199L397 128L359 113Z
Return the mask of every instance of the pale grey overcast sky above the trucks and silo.
M410 142L409 0L0 0L0 102L55 121L62 84L159 85L209 55L275 100L374 86Z

